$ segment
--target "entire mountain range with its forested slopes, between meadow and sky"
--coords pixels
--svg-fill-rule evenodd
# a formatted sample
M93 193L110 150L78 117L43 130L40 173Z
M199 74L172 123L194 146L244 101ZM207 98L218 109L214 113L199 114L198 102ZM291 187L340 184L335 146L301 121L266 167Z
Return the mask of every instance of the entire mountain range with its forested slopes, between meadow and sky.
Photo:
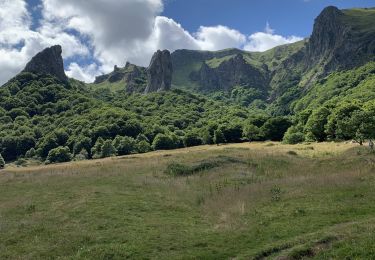
M375 134L375 9L327 7L309 39L266 52L158 51L92 84L69 79L61 47L0 88L0 153L27 163L254 140Z

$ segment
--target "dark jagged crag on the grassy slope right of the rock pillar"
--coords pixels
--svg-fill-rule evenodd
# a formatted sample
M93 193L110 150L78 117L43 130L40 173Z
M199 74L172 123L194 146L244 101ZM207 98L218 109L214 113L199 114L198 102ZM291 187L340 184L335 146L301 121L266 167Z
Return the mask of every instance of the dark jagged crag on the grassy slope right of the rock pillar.
M190 75L192 80L199 82L205 91L225 90L234 86L253 87L266 89L268 85L266 65L262 69L249 64L242 54L223 61L218 67L211 68L205 62L198 72Z

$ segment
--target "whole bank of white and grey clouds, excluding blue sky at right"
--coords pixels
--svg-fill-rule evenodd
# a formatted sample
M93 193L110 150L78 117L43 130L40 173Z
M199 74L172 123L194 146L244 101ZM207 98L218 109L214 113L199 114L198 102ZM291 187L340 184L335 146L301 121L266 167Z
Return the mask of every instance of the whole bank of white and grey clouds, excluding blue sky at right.
M54 44L62 45L63 58L72 61L66 64L67 75L92 82L126 61L147 66L158 49L264 51L301 40L277 35L268 24L264 32L250 36L223 25L191 33L160 16L162 0L41 0L37 9L42 17L32 29L33 10L26 0L0 0L0 84ZM85 57L89 65L80 65Z

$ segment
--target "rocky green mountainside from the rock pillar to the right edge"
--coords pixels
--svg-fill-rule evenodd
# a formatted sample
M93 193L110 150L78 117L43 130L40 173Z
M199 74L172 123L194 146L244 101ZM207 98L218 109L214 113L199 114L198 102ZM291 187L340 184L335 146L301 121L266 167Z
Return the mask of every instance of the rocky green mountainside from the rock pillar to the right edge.
M329 6L315 19L309 39L266 52L177 50L171 56L172 87L209 96L232 96L235 90L244 93L246 105L255 102L271 114L291 114L291 105L320 79L375 60L373 21L375 8ZM124 84L105 86L119 85Z

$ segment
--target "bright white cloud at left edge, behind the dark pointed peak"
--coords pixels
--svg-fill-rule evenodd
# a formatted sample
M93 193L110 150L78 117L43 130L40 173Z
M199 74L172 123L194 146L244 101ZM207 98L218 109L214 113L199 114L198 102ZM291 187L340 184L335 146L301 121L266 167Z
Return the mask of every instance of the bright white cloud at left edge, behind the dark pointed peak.
M31 15L24 0L0 0L0 17L0 84L48 46L63 45L64 58L89 53L78 37L53 24L44 23L38 30L31 30Z

